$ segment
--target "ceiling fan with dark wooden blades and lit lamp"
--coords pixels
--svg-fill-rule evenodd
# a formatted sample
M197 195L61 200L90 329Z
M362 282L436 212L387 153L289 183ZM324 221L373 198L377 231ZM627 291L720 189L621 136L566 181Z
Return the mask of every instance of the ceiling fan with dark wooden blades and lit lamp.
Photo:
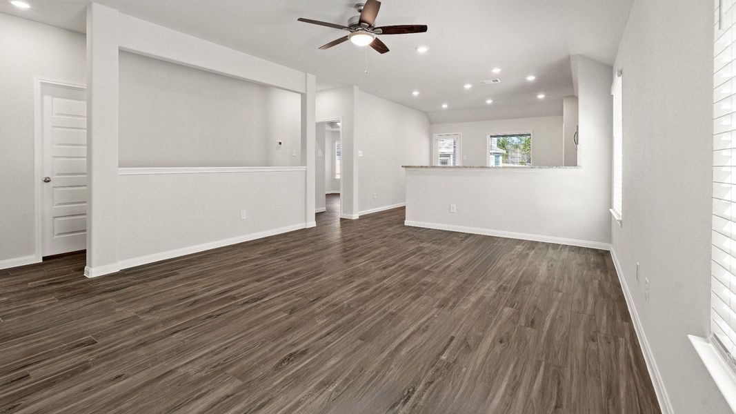
M389 48L376 35L406 35L408 33L423 33L427 31L427 26L424 24L375 27L375 16L378 15L379 9L381 9L381 1L378 0L367 0L365 3L355 4L355 10L358 10L358 13L361 14L351 17L347 21L347 26L312 20L311 18L298 18L297 20L350 32L350 35L343 36L320 47L319 49L322 50L330 49L332 46L350 40L358 46L371 46L376 52L383 54L389 52Z

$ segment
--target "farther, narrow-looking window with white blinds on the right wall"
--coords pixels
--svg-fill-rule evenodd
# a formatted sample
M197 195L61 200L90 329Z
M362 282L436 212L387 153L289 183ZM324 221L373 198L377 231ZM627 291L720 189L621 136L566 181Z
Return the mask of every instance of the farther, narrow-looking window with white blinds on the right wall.
M617 97L618 91L618 97ZM614 220L623 222L623 71L616 71L611 85L612 96L612 147L611 147L611 208ZM620 107L617 109L617 99ZM618 117L617 117L618 114ZM617 134L617 124L618 131ZM618 155L618 170L617 170ZM619 197L616 197L618 190Z

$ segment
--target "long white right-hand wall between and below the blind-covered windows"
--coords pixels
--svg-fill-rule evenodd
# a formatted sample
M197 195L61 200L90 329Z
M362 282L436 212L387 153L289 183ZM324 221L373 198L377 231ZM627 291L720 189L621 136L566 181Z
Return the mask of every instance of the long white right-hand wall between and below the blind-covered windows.
M730 413L686 337L709 334L712 6L637 0L615 63L623 225L612 224L612 245L677 414Z

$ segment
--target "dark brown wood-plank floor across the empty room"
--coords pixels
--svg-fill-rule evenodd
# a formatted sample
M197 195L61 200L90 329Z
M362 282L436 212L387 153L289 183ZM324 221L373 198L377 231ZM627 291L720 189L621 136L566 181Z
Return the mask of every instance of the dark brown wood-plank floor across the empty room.
M607 252L403 209L86 279L0 270L0 411L659 413Z

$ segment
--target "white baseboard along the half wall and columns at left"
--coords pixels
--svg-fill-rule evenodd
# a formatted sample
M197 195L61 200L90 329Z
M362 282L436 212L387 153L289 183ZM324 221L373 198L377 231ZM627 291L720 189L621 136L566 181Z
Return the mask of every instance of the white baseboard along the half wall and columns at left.
M153 253L146 256L133 257L132 259L124 259L116 264L110 264L103 267L85 267L85 276L94 278L97 276L115 273L129 267L141 266L141 264L149 264L160 262L166 259L174 259L174 257L186 256L192 253L199 253L205 250L222 248L224 246L236 245L238 243L250 242L250 240L262 239L263 237L275 236L276 234L289 233L289 231L300 230L302 228L314 227L316 222L308 222L297 225L288 225L286 227L274 228L272 230L259 231L258 233L244 234L242 236L231 237L230 239L217 240L216 242L202 243L201 245L188 246L186 248L178 248L174 250L166 250L160 253Z

